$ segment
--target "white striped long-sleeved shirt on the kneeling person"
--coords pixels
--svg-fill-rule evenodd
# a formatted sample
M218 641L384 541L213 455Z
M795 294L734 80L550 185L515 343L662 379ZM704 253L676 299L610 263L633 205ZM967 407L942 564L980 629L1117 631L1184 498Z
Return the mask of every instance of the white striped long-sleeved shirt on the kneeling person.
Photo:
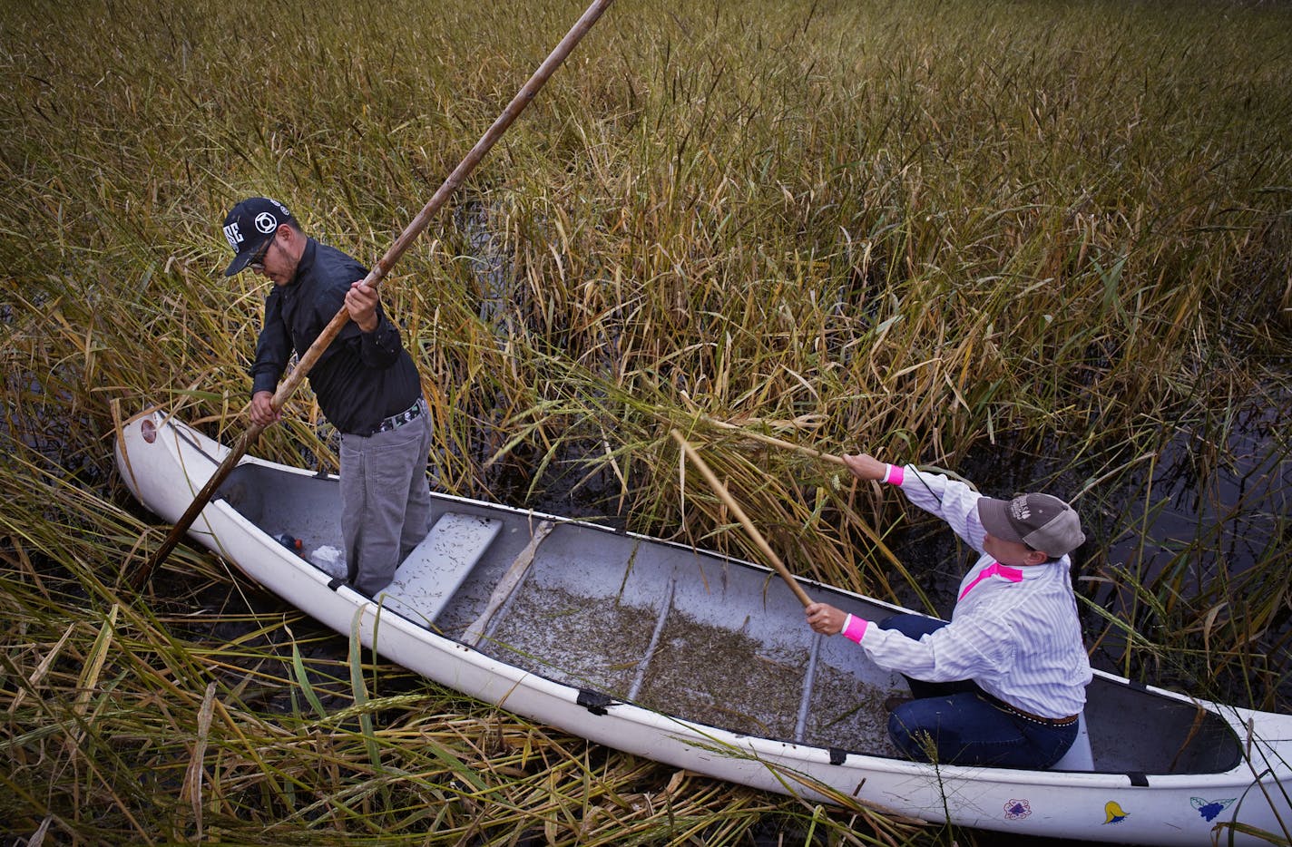
M912 504L946 520L983 555L960 582L950 624L919 640L866 626L859 642L866 652L881 668L915 679L973 679L987 693L1047 718L1079 713L1092 673L1068 558L1003 566L983 551L982 496L969 485L913 465L899 485Z

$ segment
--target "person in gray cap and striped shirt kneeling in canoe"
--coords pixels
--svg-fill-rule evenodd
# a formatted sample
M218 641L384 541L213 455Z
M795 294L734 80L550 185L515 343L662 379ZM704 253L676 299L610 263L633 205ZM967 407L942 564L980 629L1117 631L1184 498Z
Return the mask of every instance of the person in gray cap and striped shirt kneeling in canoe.
M941 474L845 456L863 480L894 484L982 553L960 582L951 621L894 615L871 622L813 603L808 622L857 642L899 671L912 699L886 706L906 755L943 764L1047 768L1078 735L1090 662L1081 643L1067 554L1085 536L1075 510L1049 495L983 497Z

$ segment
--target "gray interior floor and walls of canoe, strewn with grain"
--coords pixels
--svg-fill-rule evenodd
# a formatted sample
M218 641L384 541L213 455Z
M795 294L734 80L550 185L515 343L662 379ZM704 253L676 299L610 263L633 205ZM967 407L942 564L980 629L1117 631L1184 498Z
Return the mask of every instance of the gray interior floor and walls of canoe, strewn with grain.
M270 535L301 538L306 553L341 547L335 476L242 465L217 497ZM477 644L500 661L738 733L897 755L882 702L906 692L902 678L846 639L818 639L774 573L578 523L557 523L522 568L541 516L450 498L434 507L433 522L453 513L503 528L434 620L417 621L433 631L468 638L499 582L522 572ZM868 618L891 613L823 586L808 594ZM1097 772L1218 773L1242 759L1218 715L1118 680L1096 677L1085 719Z

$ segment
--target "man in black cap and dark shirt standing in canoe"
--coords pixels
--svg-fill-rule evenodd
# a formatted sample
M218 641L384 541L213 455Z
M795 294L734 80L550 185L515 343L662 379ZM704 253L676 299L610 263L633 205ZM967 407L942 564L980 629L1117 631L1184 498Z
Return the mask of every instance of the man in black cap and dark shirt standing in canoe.
M252 422L279 420L274 390L295 350L304 355L344 306L350 321L309 372L310 387L341 433L341 535L346 581L372 597L430 528L426 456L432 424L421 377L386 318L368 271L301 232L282 203L249 198L225 218L234 261L274 283L251 367Z

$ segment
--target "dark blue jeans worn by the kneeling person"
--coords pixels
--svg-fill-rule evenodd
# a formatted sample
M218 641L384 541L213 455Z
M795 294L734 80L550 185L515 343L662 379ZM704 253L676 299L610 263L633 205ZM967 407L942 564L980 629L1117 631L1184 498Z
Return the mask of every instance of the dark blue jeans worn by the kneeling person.
M894 615L879 624L915 639L946 625L924 615ZM906 677L906 682L915 700L889 715L889 736L916 762L1048 768L1076 740L1076 722L1053 727L1016 715L972 679L924 682Z

